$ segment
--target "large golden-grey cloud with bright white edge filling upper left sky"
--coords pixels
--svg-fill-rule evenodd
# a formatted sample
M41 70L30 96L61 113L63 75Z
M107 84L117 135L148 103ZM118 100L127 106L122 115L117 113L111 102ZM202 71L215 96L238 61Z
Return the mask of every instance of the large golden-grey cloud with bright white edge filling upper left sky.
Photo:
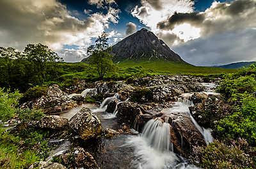
M105 15L93 13L85 20L79 20L56 0L24 0L19 5L16 1L2 0L0 46L22 50L28 43L40 42L63 54L63 45L77 45L84 49L111 22L118 22L119 12L109 8Z

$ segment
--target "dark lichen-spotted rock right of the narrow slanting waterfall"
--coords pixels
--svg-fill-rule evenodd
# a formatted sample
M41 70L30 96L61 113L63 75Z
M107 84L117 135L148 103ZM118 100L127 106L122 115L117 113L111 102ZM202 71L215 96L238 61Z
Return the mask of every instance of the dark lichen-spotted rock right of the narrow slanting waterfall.
M209 95L202 103L189 107L190 114L204 128L213 128L214 124L232 112L232 108L221 96Z

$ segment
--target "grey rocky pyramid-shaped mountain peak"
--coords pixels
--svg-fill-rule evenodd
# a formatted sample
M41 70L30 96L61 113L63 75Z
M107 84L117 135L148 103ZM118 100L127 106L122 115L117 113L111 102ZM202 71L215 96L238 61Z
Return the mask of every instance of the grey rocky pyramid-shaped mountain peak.
M163 40L143 28L112 46L113 61L183 61ZM84 59L83 61L86 61Z

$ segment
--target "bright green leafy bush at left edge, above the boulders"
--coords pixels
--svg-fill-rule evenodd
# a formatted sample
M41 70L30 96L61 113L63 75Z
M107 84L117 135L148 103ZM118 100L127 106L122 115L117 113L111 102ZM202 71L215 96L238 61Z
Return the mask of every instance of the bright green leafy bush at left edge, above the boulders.
M22 95L18 92L4 92L4 89L0 88L0 120L8 121L15 115L19 99Z

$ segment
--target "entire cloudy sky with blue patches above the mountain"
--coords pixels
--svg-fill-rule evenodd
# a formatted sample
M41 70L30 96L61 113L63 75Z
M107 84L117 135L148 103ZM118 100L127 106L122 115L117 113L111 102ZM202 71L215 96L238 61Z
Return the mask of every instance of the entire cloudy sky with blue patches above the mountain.
M256 61L256 0L1 0L0 46L44 43L67 62L103 32L114 45L142 27L184 61Z

